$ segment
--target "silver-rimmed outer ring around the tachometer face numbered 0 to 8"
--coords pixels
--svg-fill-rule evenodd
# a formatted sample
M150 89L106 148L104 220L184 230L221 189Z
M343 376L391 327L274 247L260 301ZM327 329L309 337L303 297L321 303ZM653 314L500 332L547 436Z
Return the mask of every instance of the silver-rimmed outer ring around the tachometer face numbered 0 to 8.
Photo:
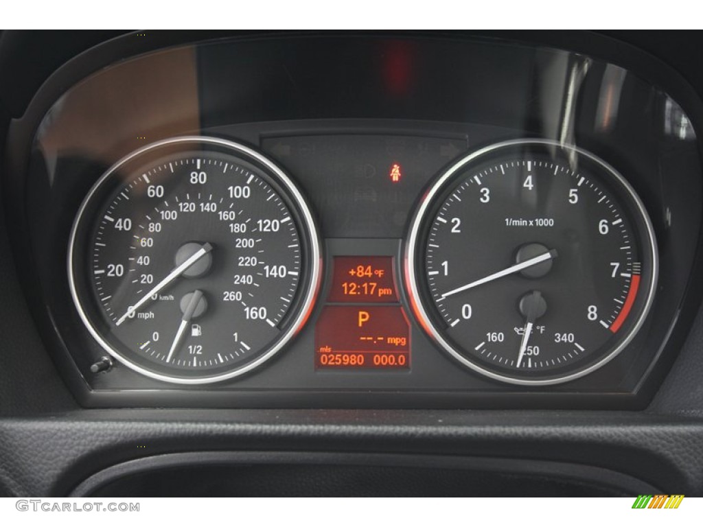
M441 318L430 294L425 272L425 247L432 226L432 218L456 186L469 176L469 173L485 164L492 164L497 160L506 159L510 155L530 155L531 153L548 153L553 157L573 155L598 169L595 177L602 182L607 190L617 199L619 204L624 204L624 214L632 221L633 234L637 238L642 263L642 284L644 294L638 294L633 305L633 315L628 317L626 323L619 331L590 355L567 363L562 367L541 370L520 370L521 375L515 375L515 370L501 367L479 360L475 354L469 353L456 341L446 334L446 321ZM588 375L623 351L632 341L643 326L650 312L657 287L659 272L657 241L654 235L652 221L643 202L626 178L619 174L610 164L601 160L591 152L572 145L562 145L556 141L546 139L519 139L505 141L486 146L479 150L460 157L442 173L434 178L427 188L411 220L406 237L405 247L405 282L408 294L411 297L413 312L420 321L420 325L430 336L434 344L457 360L460 365L470 368L485 377L522 386L547 386L562 384Z

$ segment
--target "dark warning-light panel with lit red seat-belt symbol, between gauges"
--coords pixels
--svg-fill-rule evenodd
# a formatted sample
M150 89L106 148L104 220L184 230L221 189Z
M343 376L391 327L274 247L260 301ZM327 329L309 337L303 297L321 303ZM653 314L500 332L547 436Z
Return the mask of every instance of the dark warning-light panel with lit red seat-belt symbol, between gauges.
M304 176L324 238L402 238L408 210L430 174L466 139L415 134L267 137L264 152Z

